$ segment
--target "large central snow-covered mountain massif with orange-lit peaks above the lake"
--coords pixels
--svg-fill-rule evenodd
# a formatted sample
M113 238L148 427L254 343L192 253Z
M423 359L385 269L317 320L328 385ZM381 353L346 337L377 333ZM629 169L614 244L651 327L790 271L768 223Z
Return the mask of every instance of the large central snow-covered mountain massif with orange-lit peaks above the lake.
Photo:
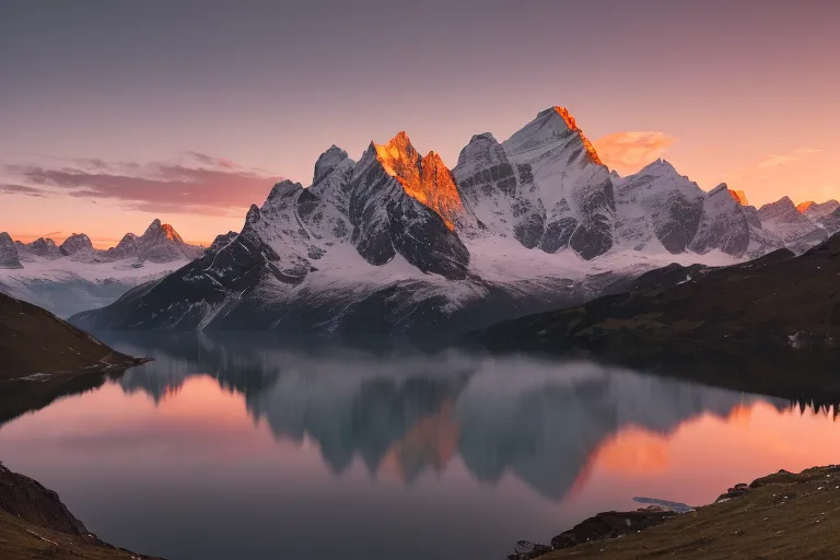
M503 142L472 137L452 172L405 132L358 162L334 145L308 188L275 185L238 235L73 320L441 335L582 302L675 261L734 264L810 242L783 238L779 223L664 161L611 173L552 107Z

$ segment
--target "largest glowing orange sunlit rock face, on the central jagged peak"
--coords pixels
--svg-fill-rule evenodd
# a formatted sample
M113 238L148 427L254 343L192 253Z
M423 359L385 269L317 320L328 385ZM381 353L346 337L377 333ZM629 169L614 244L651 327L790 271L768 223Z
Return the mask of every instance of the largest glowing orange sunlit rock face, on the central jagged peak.
M434 210L446 226L454 230L464 205L441 156L429 152L425 158L420 158L405 132L385 145L373 145L385 173L399 180L408 196Z

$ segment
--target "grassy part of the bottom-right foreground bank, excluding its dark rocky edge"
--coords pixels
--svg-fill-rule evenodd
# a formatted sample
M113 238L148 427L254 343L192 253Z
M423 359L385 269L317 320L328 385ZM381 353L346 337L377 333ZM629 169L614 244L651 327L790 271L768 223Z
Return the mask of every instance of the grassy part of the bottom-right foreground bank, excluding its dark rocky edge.
M540 557L545 560L840 558L840 468L772 475L744 497L665 524ZM788 499L784 499L788 497Z

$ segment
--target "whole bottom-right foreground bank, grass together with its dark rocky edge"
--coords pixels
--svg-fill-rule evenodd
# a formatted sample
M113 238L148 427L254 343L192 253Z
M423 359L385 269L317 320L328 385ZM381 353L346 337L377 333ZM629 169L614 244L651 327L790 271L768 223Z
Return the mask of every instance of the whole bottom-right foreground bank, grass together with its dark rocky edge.
M677 504L681 505L681 504ZM521 541L522 542L522 541ZM715 502L686 513L652 505L603 512L533 552L510 560L838 558L840 466L800 474L780 470L728 488Z

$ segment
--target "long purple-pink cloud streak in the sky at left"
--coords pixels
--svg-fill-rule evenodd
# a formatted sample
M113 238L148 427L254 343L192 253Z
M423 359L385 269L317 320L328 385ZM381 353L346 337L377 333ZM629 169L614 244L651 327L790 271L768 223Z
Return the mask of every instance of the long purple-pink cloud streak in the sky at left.
M3 185L1 192L115 200L122 207L158 213L228 215L265 200L281 177L242 167L224 158L189 152L179 163L107 163L74 160L70 165L7 165L27 185ZM9 188L4 188L9 187Z

